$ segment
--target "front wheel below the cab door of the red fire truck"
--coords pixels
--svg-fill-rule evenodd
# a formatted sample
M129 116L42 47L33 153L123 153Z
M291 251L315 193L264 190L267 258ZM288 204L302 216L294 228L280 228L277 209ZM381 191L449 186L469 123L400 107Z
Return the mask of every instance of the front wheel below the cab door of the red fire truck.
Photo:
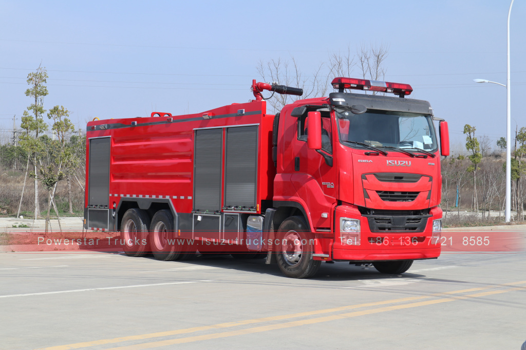
M276 260L281 272L291 278L304 279L318 272L320 260L312 260L313 236L302 217L290 217L278 229Z

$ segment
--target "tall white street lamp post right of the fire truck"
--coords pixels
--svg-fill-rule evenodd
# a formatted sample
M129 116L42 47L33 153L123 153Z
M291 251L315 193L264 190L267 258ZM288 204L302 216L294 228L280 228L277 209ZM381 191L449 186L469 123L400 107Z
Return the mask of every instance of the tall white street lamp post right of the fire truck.
M495 83L484 79L473 79L475 83L493 83L502 85L508 92L507 98L507 118L506 118L506 208L504 210L504 218L506 222L511 219L511 83L510 83L510 15L513 0L511 0L510 9L508 10L508 77L507 84Z

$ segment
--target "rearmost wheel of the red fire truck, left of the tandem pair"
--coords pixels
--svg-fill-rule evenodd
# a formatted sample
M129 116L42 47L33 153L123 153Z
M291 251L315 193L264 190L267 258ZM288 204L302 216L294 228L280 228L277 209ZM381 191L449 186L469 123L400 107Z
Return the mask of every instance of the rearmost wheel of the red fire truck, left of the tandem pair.
M128 209L120 223L123 250L128 256L144 256L148 251L148 227L150 218L140 209Z

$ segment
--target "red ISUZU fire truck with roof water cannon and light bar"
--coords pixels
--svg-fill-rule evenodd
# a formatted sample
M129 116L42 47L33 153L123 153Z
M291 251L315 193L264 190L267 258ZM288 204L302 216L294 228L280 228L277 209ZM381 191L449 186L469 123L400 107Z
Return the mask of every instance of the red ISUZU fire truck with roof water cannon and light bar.
M276 115L262 92L302 90L253 80L247 103L89 122L85 228L120 231L130 256L266 256L296 278L322 261L398 274L436 259L447 122L407 84L332 86Z

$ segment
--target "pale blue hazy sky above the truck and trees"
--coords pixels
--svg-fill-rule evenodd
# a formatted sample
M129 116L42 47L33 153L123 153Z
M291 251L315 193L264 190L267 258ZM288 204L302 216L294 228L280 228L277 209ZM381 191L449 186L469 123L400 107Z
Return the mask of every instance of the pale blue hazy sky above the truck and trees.
M0 1L0 136L31 104L27 74L48 70L44 108L94 117L200 112L245 102L259 60L294 56L311 74L329 54L389 45L387 81L408 83L450 123L505 136L510 1ZM511 16L512 131L526 126L524 1ZM355 76L359 76L356 68Z

